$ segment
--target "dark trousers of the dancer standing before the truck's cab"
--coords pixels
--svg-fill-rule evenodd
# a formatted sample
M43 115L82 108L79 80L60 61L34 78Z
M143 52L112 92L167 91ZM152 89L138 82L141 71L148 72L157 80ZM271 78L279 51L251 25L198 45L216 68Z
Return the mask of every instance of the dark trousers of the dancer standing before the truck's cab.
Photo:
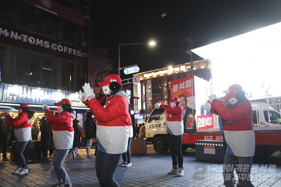
M172 156L173 168L178 167L178 162L179 167L183 168L184 158L181 153L181 142L182 135L174 136L169 134L169 148Z

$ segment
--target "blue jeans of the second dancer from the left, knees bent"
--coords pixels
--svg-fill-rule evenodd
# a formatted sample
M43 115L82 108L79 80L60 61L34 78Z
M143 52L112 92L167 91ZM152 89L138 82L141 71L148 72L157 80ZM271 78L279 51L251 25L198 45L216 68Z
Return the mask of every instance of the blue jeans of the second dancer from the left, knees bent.
M59 182L64 182L64 184L70 181L68 174L62 166L68 151L69 149L55 149L53 155L53 166L56 172L56 177L58 178Z

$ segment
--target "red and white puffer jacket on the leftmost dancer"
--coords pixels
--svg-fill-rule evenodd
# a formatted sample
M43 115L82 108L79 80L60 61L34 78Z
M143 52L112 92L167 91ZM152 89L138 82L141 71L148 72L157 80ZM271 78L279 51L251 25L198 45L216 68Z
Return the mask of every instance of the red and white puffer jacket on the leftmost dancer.
M5 124L14 127L15 136L19 142L29 141L31 139L31 124L27 112L20 112L13 119L10 114L6 115Z

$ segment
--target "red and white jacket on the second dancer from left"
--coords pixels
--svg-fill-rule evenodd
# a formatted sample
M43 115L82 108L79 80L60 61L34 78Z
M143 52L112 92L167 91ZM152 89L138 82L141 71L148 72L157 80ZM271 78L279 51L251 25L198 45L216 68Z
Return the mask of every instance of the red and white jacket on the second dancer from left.
M45 110L47 113L47 124L52 125L54 149L71 149L73 146L74 128L73 120L75 115L62 111L57 115L50 109Z

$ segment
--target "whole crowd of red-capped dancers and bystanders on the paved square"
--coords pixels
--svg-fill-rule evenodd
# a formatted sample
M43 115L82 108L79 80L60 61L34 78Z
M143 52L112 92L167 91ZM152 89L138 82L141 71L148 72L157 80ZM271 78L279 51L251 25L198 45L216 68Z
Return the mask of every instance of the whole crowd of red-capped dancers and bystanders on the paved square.
M9 139L17 141L18 166L12 174L28 173L24 152L29 147L31 139L40 139L40 148L43 151L42 159L53 159L58 181L52 186L72 186L63 162L67 155L68 158L76 158L80 138L85 137L87 157L96 157L95 169L100 186L119 186L114 174L118 166L132 166L131 141L145 138L145 124L132 124L128 113L130 100L128 95L121 90L121 79L118 75L108 75L104 82L98 84L102 86L105 95L101 100L95 98L89 83L85 83L81 89L83 91L79 92L78 99L91 110L86 115L85 131L79 127L76 112L71 108L71 102L68 99L54 103L57 106L55 110L50 110L47 105L43 105L45 115L42 119L34 117L35 111L25 103L15 108L18 110L16 118L11 117L7 110L0 113L2 161L8 161L6 152ZM167 174L177 174L179 177L184 176L181 152L184 106L180 102L180 98L174 96L168 104L161 102L155 104L156 108L166 111L169 148L172 157L172 170ZM250 171L255 151L255 134L251 126L251 104L246 99L242 87L230 86L222 98L217 98L215 95L209 96L209 101L203 105L203 109L220 116L220 130L224 134L224 144L226 145L223 171L225 186L234 186L233 172L239 162L242 168L244 166L250 168L248 170L240 169L240 172L237 172L239 184L252 187ZM30 123L32 118L33 121ZM10 134L9 139L8 134ZM90 153L93 138L97 141L94 155ZM119 165L121 157L123 157L123 162ZM233 169L227 170L229 165Z

